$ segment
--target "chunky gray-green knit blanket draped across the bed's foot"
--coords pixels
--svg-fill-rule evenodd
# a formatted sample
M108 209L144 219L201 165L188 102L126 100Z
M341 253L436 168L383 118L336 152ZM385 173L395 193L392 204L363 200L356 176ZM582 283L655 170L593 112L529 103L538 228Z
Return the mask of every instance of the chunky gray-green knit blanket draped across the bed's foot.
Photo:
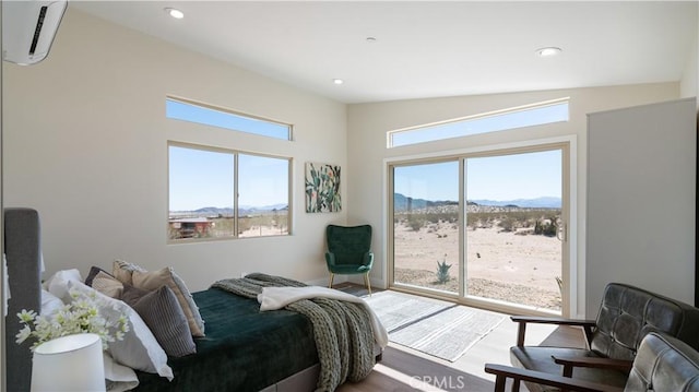
M247 298L259 298L265 287L307 285L282 276L254 273L242 278L222 280L212 287ZM306 316L313 326L313 340L320 363L317 392L331 392L345 381L360 381L369 375L376 365L376 358L375 323L368 307L356 301L317 297L285 304L284 309ZM378 325L381 325L380 322Z

